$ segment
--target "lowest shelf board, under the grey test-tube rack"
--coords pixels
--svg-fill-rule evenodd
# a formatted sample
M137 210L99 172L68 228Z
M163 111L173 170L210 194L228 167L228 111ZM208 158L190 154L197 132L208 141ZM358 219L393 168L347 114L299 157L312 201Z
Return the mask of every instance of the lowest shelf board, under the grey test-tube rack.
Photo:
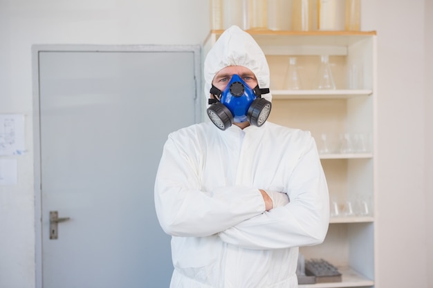
M362 276L349 267L338 267L342 273L342 282L317 283L299 285L300 288L338 288L338 287L368 287L373 286L374 281Z

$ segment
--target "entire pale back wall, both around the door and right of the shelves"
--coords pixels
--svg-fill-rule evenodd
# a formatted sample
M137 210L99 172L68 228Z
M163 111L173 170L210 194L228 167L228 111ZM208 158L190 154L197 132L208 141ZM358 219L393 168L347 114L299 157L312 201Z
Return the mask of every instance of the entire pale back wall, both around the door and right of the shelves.
M378 31L379 288L433 287L431 2L362 0L362 30ZM208 15L206 0L0 0L0 113L26 115L28 148L0 186L0 288L35 287L31 46L201 44Z

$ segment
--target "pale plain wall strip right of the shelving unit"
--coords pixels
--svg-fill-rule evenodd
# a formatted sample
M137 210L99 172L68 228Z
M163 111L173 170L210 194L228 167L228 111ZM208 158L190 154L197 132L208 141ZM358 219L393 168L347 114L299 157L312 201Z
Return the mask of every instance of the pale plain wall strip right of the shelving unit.
M424 75L424 41L432 33L432 26L425 23L433 12L431 5L424 11L428 1L368 1L371 18L363 19L378 32L376 284L380 288L432 287L431 269L426 267L426 250L432 247L426 208L432 200L429 205L425 171L431 172L433 164L431 157L430 162L425 158L427 139L432 144L432 124L426 126L432 102L430 108L425 106Z

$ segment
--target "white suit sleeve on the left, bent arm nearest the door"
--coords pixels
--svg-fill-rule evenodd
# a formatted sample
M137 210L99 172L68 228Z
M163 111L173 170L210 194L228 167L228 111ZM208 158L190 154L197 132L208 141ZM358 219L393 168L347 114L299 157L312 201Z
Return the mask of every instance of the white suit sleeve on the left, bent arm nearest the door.
M185 150L183 147L188 147ZM169 136L156 175L154 197L160 226L172 236L209 236L265 211L258 189L223 186L201 191L200 145Z

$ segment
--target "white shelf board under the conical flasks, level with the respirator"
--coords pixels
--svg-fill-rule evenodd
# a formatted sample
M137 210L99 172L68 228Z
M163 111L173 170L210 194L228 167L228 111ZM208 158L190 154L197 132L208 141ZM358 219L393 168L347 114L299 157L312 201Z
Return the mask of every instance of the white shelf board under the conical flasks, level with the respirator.
M271 90L270 93L272 93L273 99L349 99L369 96L373 93L373 90Z

